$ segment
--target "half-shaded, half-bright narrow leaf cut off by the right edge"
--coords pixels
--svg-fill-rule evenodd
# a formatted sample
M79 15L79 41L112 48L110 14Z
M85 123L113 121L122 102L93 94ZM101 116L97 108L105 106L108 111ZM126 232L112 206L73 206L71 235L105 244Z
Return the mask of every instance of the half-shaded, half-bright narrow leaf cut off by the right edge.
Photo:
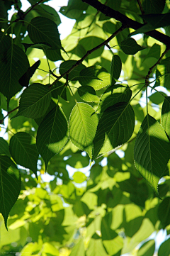
M162 105L162 126L170 138L170 96L166 96Z

